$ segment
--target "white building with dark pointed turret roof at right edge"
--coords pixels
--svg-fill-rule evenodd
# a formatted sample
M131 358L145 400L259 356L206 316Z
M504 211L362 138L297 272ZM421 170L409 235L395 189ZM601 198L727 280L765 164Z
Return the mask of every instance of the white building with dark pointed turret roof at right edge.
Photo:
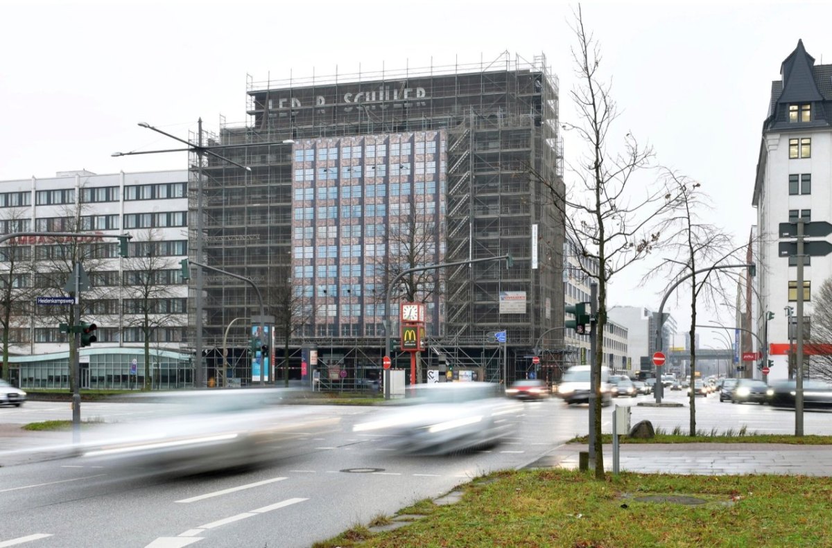
M757 208L758 264L753 307L756 333L767 340L773 365L769 378L790 376L789 324L797 300L797 259L780 256L780 223L799 217L828 221L832 194L832 65L817 65L802 41L780 65L771 82L763 123L752 205ZM829 277L828 256L805 258L804 315L813 311L813 294ZM790 313L790 309L791 313ZM752 309L749 307L749 309ZM768 313L774 318L767 319ZM810 365L810 357L805 358ZM759 374L759 373L757 373Z

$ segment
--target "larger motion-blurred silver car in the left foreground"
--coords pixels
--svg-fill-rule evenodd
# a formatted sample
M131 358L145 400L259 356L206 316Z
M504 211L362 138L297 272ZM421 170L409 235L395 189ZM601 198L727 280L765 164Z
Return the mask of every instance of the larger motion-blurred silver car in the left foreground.
M287 406L280 389L162 392L151 395L154 412L136 422L84 432L73 447L83 459L153 471L201 472L255 467L285 456L295 437L337 419L316 417L311 407Z

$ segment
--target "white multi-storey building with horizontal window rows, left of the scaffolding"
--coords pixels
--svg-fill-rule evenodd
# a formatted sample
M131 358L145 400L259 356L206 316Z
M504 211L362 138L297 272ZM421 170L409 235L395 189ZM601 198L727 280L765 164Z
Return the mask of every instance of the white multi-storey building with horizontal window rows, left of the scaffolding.
M70 232L81 238L23 235L2 248L2 309L11 313L9 354L22 388L68 388L65 297L74 265L89 280L80 293L82 322L96 323L97 342L81 351L83 388L134 388L145 380L143 349L150 337L157 387L192 386L187 287L179 261L187 257L188 172L96 175L0 181L0 232ZM116 239L131 234L128 257ZM11 293L5 289L11 286ZM108 350L111 349L111 350Z

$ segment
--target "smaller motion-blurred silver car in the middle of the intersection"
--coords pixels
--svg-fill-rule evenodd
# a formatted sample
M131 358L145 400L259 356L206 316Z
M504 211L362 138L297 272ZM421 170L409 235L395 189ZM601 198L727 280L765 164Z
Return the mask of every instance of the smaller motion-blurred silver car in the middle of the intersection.
M434 383L411 387L397 407L379 410L379 417L356 424L353 432L378 436L395 451L441 455L486 447L511 432L512 417L522 403L502 397L493 383Z

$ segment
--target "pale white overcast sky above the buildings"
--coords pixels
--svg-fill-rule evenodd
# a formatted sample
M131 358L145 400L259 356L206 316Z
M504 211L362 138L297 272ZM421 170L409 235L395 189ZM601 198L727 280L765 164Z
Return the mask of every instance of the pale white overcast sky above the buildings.
M201 116L245 123L255 81L313 74L488 62L509 51L545 54L560 80L561 117L575 43L567 2L212 2L111 0L0 2L0 180L61 170L185 169L186 154L112 158L114 151L175 148L146 121L186 138ZM632 132L661 165L701 181L713 220L747 240L760 129L770 82L799 38L832 62L832 2L585 2L601 43L602 73ZM826 37L826 38L825 38ZM564 136L567 159L582 143ZM567 175L568 177L568 175ZM567 180L568 183L568 180ZM636 290L640 265L608 305L657 309L658 288ZM680 331L688 312L672 305ZM716 318L714 313L711 314ZM723 323L730 315L723 313ZM702 343L718 343L702 333ZM681 344L681 337L676 338Z

